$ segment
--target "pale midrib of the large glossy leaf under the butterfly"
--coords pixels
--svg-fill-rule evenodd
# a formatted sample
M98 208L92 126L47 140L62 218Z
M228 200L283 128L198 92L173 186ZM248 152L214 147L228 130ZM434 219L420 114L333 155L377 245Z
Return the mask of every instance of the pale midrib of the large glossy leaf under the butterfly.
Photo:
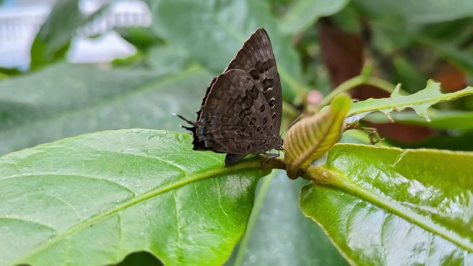
M62 234L58 234L55 236L55 238L50 239L49 241L45 242L42 245L39 245L32 251L28 252L27 254L24 254L15 262L10 263L10 265L17 265L19 263L24 262L26 258L30 258L34 254L39 253L40 251L43 251L44 249L47 249L48 247L51 247L59 241L64 240L67 236L71 234L75 234L77 231L80 231L81 229L85 229L86 227L89 227L90 225L93 225L93 223L98 222L106 217L109 217L115 213L118 213L119 211L122 211L124 209L127 209L128 207L131 207L133 205L136 205L140 202L143 202L145 200L149 200L149 198L153 198L154 196L158 196L160 194L163 194L167 191L171 191L172 189L178 189L180 187L185 186L186 184L190 184L192 182L197 182L199 180L204 180L207 178L213 178L215 176L223 175L225 173L232 173L235 171L242 171L242 170L248 170L248 169L258 169L260 168L260 162L258 160L256 161L248 161L240 164L236 164L232 167L223 167L219 169L213 169L213 170L206 170L203 172L197 172L194 175L189 175L189 178L185 180L179 180L178 182L174 182L173 184L169 184L165 187L161 187L160 189L156 191L149 191L148 193L143 193L142 195L133 198L133 200L130 200L129 202L124 202L122 205L117 205L115 208L110 209L109 211L105 211L103 213L100 213L98 216L93 216L89 218L88 220L84 220L84 222L71 227L71 229L68 229L67 231L64 231Z

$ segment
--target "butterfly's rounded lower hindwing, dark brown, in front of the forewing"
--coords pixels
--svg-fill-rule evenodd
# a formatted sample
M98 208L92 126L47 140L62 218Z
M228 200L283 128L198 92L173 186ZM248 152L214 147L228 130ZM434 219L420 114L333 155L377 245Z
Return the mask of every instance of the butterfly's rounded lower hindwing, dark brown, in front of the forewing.
M250 74L234 69L212 83L194 123L194 149L259 154L272 149L275 120ZM196 145L197 144L197 145Z

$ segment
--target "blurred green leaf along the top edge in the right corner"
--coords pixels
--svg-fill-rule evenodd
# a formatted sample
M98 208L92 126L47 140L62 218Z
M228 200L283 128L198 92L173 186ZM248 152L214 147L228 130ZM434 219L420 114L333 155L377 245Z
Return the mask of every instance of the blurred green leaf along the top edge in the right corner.
M471 17L473 1L396 1L396 0L354 0L365 12L374 17L398 17L409 23L433 23Z

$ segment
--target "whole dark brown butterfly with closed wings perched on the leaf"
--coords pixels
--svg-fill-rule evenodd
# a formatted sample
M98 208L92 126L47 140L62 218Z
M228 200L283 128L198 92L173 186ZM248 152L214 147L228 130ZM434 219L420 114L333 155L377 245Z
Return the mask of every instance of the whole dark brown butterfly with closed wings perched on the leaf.
M227 68L214 77L202 99L197 121L192 127L194 150L227 153L225 166L246 155L265 154L270 158L283 150L279 136L282 115L281 80L271 41L258 28Z

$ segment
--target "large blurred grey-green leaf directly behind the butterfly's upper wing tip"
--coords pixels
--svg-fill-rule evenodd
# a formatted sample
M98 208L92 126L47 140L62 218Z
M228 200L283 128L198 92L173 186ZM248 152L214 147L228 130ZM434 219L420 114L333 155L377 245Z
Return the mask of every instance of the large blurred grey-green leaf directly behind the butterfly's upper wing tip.
M277 19L264 1L156 1L151 28L169 45L214 73L221 73L243 42L259 27L268 31L284 98L292 99L303 88L299 56L290 36L277 30Z

